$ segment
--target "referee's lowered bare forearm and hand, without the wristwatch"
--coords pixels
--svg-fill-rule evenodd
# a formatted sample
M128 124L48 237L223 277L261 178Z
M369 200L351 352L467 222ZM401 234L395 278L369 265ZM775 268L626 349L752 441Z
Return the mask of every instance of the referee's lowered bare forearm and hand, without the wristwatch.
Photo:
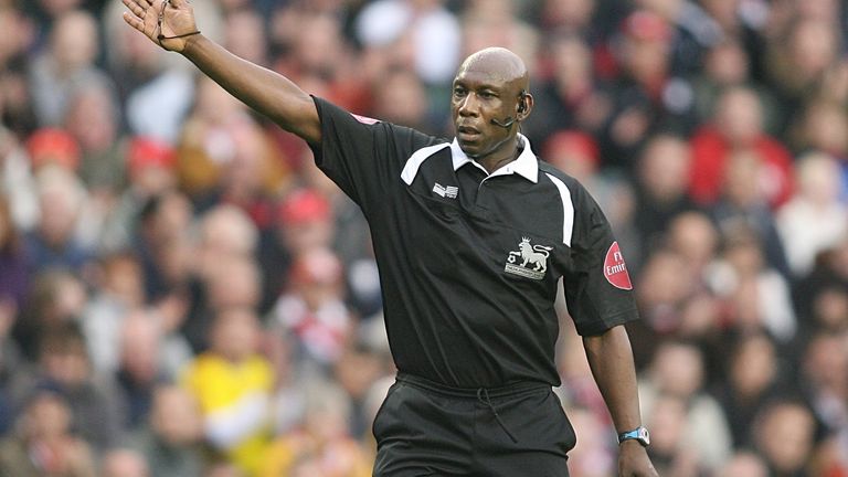
M601 394L613 417L617 433L642 425L636 371L630 340L623 325L597 336L583 338L586 359ZM647 452L636 441L619 445L618 475L622 477L657 477Z

